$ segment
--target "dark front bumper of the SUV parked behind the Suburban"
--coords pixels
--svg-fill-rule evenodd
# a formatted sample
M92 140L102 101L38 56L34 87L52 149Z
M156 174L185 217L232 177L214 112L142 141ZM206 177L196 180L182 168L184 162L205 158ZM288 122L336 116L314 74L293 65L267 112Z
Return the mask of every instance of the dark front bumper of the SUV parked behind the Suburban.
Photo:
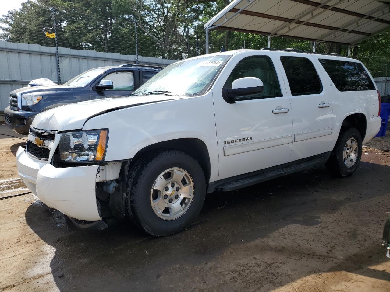
M14 132L21 135L28 135L32 120L39 113L37 111L12 111L9 107L4 109L5 122Z

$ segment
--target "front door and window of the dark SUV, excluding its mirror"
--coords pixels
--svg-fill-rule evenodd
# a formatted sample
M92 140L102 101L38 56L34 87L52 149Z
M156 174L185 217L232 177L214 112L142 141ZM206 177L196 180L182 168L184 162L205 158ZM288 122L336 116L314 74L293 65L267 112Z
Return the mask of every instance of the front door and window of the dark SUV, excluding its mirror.
M138 70L116 70L101 77L91 86L91 99L102 99L113 95L128 96L133 93L139 84ZM99 84L101 80L111 80L114 88L97 90L94 85Z

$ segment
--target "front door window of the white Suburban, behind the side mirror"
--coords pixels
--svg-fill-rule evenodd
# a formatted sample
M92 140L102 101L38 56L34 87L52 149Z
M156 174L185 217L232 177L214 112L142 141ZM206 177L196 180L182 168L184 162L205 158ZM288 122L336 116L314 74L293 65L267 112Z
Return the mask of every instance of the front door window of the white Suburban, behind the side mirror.
M234 68L223 88L232 88L234 80L243 77L257 77L264 84L264 91L253 98L282 96L275 67L268 56L253 56L241 60Z

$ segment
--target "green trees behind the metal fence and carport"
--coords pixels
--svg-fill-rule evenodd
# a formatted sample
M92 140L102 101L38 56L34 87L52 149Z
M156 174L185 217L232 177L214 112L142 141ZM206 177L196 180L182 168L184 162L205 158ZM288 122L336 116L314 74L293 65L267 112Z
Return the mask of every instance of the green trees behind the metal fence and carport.
M135 21L138 54L183 59L202 55L206 35L203 25L225 7L229 0L27 0L19 11L9 11L0 19L0 39L54 46L45 37L53 32L55 8L58 46L135 55ZM260 49L267 37L259 34L211 30L209 51ZM312 51L305 40L274 37L271 47ZM317 44L321 53L347 54L347 46ZM365 40L351 55L362 60L374 77L388 76L390 32ZM390 68L389 68L390 69Z

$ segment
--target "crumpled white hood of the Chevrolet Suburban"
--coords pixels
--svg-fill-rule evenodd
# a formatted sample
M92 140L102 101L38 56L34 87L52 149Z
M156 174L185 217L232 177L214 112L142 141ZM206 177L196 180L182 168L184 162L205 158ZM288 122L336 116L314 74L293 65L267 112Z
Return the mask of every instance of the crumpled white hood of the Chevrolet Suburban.
M44 111L35 116L32 126L43 130L58 130L59 132L78 130L83 128L85 121L99 114L126 107L147 106L147 104L155 102L181 98L167 95L144 95L88 100Z

